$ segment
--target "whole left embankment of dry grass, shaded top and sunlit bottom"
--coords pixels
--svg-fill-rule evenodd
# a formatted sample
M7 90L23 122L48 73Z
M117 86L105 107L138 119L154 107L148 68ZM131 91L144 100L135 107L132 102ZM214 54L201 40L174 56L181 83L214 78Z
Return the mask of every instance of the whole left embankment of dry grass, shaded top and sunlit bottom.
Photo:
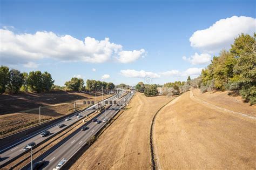
M20 96L2 96L0 95L0 101L3 101L1 105L4 106L8 102L9 105L16 105L17 107L5 110L1 110L0 114L0 138L6 137L10 134L17 133L39 124L39 108L35 106L42 106L41 108L41 123L44 121L50 121L57 119L66 114L73 112L73 101L77 99L82 100L94 100L93 94L76 93L76 92L54 92L54 93L42 93L42 94L21 94ZM103 98L110 97L111 95L104 95ZM14 100L14 98L20 98ZM49 100L54 99L54 100ZM12 100L14 100L12 102ZM96 100L102 100L102 96L99 94L96 96ZM65 103L58 103L58 102ZM56 104L58 103L58 104ZM7 107L7 106L6 106ZM80 109L85 108L86 105L80 105ZM2 108L2 106L0 107ZM30 110L23 110L18 112L17 108L32 108ZM78 109L78 106L76 107ZM3 112L2 112L3 111ZM11 112L11 113L9 113Z

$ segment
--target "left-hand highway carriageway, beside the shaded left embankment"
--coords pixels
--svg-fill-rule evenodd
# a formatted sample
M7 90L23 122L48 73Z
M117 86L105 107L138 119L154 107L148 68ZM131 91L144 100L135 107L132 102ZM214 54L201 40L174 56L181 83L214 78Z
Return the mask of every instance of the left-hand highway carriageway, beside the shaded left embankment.
M105 99L105 100L109 101L109 100L114 100L116 98L117 98L117 96L114 95L114 96L110 97L109 99ZM104 104L105 104L105 102L102 102L102 106ZM95 107L95 108L93 108L93 107ZM38 144L39 142L46 141L46 140L48 140L49 137L51 137L51 135L57 133L58 131L62 130L63 128L67 128L69 125L71 125L81 119L84 119L84 117L86 115L95 112L96 109L97 109L97 104L87 108L83 112L80 112L80 114L82 114L83 117L77 118L75 116L75 114L72 114L70 116L71 120L65 121L65 118L63 118L62 121L52 124L52 126L50 126L48 129L44 129L36 134L30 135L28 138L26 138L22 141L17 141L12 146L6 147L2 151L0 151L1 157L2 157L1 162L0 162L0 167L2 167L2 165L5 164L7 161L10 161L11 159L17 159L19 157L19 155L22 155L22 153L25 152L25 151L23 151L23 148L30 142L35 142L36 144ZM58 128L57 127L58 124L65 124L65 126L62 128ZM40 134L46 130L50 131L50 135L48 135L47 137L40 137Z

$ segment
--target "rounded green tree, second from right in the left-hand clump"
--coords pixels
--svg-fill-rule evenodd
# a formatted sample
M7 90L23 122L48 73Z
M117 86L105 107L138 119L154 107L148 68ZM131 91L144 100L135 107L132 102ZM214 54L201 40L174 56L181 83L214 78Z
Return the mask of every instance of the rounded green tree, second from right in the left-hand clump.
M32 91L42 92L43 84L42 84L42 73L41 71L31 71L28 76L28 86Z

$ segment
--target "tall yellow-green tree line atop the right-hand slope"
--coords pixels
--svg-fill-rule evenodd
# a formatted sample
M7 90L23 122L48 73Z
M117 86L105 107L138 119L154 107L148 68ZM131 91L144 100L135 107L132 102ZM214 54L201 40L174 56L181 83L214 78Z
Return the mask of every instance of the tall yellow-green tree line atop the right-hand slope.
M234 39L230 50L222 50L201 75L191 80L194 87L206 91L230 91L240 94L251 104L256 103L256 33L242 33Z

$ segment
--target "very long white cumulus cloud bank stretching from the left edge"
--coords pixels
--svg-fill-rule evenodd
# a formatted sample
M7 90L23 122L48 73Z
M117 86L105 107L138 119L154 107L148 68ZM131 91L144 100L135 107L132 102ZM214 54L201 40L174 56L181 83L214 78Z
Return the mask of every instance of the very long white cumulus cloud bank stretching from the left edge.
M16 34L8 29L0 29L0 35L1 62L5 64L24 64L28 60L43 58L65 62L103 63L114 56L119 62L127 63L145 53L143 49L123 51L122 45L111 43L109 38L96 40L86 37L79 40L70 35L59 36L47 31Z

